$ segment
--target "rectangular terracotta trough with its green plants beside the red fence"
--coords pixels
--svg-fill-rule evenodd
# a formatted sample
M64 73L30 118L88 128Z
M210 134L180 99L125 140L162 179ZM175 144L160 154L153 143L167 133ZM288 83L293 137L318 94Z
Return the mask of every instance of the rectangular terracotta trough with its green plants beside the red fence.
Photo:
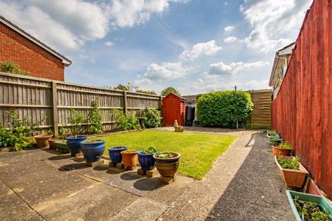
M309 173L298 157L275 156L275 163L288 188L302 188Z

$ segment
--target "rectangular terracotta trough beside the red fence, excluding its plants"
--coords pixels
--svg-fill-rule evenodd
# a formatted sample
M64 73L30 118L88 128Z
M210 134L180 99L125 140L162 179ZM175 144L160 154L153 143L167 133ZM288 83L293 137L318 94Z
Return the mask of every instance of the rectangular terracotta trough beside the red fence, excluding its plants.
M282 157L284 158L284 160L294 160L295 158L286 156ZM278 162L277 156L275 156L275 163L279 167L279 171L288 188L302 188L304 181L306 180L306 175L308 175L309 173L300 162L298 171L292 169L283 169Z

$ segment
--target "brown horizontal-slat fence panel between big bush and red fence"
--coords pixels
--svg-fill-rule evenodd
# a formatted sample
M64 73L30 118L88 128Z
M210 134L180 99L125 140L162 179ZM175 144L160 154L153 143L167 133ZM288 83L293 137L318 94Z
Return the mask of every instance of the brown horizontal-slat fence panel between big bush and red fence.
M250 128L271 128L272 90L250 90L254 111L250 116Z

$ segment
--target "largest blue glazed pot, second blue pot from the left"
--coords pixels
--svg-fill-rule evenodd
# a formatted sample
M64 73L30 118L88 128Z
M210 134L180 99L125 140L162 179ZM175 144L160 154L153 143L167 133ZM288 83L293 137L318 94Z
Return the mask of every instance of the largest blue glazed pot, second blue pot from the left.
M93 140L88 142L82 142L82 153L86 161L97 162L100 161L102 154L105 150L104 140Z

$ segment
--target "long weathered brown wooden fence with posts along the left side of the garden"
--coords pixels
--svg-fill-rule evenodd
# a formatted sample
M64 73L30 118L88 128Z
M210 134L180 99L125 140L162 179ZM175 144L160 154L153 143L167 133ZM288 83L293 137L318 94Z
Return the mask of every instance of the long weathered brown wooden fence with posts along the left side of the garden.
M5 127L9 126L8 111L15 109L20 117L28 116L33 122L46 117L41 130L52 128L58 135L59 127L71 126L68 117L72 109L87 117L91 102L97 98L104 131L114 128L116 116L113 109L135 114L143 108L160 109L161 105L158 95L0 73L0 122Z

